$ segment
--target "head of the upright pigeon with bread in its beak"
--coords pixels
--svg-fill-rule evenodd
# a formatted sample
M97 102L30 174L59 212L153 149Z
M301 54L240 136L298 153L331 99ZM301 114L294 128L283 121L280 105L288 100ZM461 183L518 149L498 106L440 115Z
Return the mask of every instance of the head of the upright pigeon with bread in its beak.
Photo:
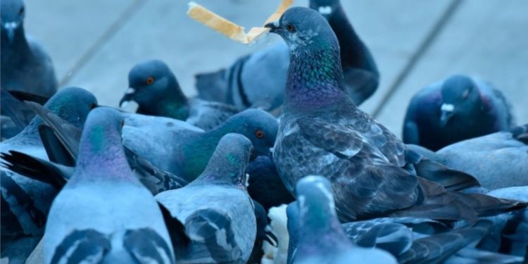
M310 8L289 8L279 20L265 27L284 39L291 54L325 49L339 52L339 42L332 27L318 11Z

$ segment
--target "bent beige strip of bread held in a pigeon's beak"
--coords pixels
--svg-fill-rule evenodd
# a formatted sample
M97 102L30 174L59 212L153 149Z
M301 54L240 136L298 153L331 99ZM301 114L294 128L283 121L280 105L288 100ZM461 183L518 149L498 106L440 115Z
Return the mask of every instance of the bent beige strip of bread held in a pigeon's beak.
M279 19L282 13L284 13L284 11L286 11L287 8L291 6L293 1L294 0L283 0L279 8L277 8L277 11L270 15L264 25ZM258 37L261 37L263 34L266 34L270 31L270 29L266 27L251 27L251 30L249 30L249 32L246 34L244 32L244 27L232 23L230 20L222 18L213 11L210 11L207 8L192 1L189 3L187 15L199 23L202 23L203 25L206 25L213 30L224 34L226 37L229 37L230 39L242 44L251 44L251 42L258 39Z

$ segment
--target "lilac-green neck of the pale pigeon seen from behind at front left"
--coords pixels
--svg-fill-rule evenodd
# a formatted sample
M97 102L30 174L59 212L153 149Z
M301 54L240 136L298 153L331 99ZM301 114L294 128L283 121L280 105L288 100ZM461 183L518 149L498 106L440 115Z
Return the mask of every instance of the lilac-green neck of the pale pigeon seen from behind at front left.
M75 176L73 181L135 180L115 125L101 122L84 129Z

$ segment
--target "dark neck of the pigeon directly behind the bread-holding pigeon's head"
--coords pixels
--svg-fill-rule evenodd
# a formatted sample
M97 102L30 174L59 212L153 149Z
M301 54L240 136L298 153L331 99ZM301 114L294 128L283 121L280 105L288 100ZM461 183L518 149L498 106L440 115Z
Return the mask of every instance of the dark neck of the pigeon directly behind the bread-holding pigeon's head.
M365 44L356 34L341 4L328 18L328 23L341 47L341 63L344 67L365 68L365 70L376 70L366 57Z

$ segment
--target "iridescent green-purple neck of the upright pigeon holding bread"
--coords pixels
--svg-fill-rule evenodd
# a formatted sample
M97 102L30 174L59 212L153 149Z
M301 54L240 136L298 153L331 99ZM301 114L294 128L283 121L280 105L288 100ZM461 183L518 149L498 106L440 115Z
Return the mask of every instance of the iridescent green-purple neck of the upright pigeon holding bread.
M339 46L313 49L300 46L290 52L284 108L287 111L318 111L336 105L344 96L344 77Z

